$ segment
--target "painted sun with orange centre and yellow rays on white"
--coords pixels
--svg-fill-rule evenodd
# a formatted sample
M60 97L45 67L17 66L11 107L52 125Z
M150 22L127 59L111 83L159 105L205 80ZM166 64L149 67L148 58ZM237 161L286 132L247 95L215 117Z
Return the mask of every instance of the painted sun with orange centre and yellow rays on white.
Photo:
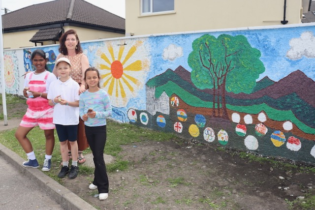
M125 107L144 87L150 61L143 40L109 42L98 51L96 66L101 74L101 87L108 92L112 104ZM105 61L105 63L104 63Z

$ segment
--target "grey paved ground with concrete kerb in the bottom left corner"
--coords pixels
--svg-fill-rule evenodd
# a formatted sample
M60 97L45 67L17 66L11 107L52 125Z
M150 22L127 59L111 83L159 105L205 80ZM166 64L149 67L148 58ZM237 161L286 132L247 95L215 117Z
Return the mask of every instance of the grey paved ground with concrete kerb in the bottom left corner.
M19 126L21 119L0 121L0 132ZM17 146L18 143L17 143ZM0 210L95 210L79 196L0 144Z

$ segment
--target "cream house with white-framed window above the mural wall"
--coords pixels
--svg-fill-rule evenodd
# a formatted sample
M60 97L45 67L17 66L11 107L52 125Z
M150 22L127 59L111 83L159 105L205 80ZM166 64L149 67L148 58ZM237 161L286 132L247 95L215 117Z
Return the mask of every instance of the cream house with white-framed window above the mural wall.
M126 0L126 35L301 23L311 0Z

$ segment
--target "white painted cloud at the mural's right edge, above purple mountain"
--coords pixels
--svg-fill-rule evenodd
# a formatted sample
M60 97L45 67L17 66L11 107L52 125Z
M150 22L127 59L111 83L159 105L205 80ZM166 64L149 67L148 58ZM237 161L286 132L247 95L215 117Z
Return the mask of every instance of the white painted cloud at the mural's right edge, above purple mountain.
M302 56L315 58L315 37L313 32L303 32L300 38L291 39L289 45L291 48L286 53L289 59L298 60L301 59Z

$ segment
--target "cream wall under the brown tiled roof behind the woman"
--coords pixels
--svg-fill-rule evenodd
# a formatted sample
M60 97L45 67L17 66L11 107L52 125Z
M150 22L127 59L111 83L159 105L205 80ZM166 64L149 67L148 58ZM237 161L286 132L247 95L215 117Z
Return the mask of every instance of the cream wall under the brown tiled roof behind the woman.
M74 29L77 31L80 41L86 40L95 40L95 39L104 39L104 38L114 38L125 36L125 34L121 33L113 33L108 31L101 30L92 30L92 29L84 29L79 27L63 27L64 31L69 29ZM12 32L12 33L4 33L3 34L3 48L4 49L16 49L16 48L24 48L24 47L34 47L35 43L30 42L30 39L38 30L28 30L22 32ZM56 42L57 44L59 42ZM44 45L55 44L52 41L44 42ZM41 46L40 43L37 43L37 46Z

